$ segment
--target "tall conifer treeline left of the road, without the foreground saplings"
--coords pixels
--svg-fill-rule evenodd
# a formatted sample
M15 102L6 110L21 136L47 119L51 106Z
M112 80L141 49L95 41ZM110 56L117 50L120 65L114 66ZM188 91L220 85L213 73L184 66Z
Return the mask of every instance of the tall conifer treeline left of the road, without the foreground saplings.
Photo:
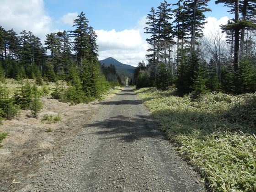
M121 83L120 78L109 78L112 71L99 64L97 35L83 12L73 28L47 34L43 45L32 32L18 35L0 27L0 79L35 79L37 85L64 80L69 84L66 100L75 103L101 96L109 89L107 79Z

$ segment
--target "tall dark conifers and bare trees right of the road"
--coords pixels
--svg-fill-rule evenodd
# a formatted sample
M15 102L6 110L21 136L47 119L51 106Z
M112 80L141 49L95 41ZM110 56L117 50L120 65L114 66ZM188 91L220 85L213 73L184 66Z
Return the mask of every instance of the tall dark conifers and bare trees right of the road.
M234 18L222 32L203 36L209 0L164 1L151 8L148 64L134 72L137 88L155 86L177 94L198 96L209 91L232 94L256 91L256 3L254 0L216 0ZM174 9L171 9L174 7Z

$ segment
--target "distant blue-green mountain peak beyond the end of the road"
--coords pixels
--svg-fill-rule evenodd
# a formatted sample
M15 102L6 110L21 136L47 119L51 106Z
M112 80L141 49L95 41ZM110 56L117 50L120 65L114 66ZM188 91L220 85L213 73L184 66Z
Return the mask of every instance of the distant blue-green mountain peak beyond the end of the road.
M109 57L107 59L103 59L100 61L101 64L105 64L105 66L109 66L110 64L115 65L117 72L127 72L132 73L134 72L135 67L128 64L122 64L121 62L117 61L117 59L114 59L112 57Z

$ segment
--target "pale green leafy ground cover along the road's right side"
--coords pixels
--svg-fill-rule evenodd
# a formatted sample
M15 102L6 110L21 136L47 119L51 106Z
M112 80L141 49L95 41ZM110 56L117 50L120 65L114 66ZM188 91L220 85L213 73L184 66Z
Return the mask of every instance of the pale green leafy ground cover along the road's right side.
M135 92L213 191L256 191L256 94Z

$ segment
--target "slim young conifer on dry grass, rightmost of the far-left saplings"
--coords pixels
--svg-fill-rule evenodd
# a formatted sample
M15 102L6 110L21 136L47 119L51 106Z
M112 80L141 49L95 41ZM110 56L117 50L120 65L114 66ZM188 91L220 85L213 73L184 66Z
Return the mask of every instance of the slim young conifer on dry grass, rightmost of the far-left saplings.
M38 113L43 109L43 102L40 101L41 96L37 90L37 86L34 84L32 88L32 100L30 102L30 110L33 117L37 118Z

